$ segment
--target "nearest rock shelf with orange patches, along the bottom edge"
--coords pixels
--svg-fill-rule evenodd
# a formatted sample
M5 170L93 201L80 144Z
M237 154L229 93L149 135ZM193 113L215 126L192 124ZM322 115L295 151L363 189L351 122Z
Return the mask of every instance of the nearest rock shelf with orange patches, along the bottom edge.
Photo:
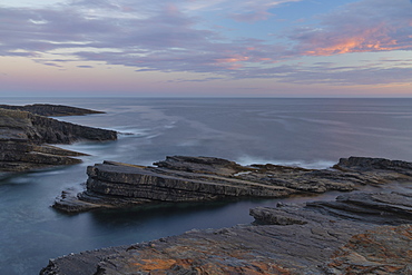
M254 225L51 259L40 274L412 274L411 193L349 194L251 215Z

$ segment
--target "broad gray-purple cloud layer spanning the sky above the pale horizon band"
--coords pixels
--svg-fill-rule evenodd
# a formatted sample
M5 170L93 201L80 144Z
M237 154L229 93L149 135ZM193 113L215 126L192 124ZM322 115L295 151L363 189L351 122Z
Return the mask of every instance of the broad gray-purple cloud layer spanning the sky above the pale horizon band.
M277 4L295 1L300 0L239 0L236 8L227 0L76 0L43 9L0 7L0 56L29 57L48 66L77 59L136 67L137 71L212 72L296 84L410 81L410 62L347 68L282 65L303 56L411 50L408 0L346 4L320 17L318 26L290 29L284 35L291 41L287 45L233 39L218 28L200 27L207 22L202 12L256 21L268 18Z

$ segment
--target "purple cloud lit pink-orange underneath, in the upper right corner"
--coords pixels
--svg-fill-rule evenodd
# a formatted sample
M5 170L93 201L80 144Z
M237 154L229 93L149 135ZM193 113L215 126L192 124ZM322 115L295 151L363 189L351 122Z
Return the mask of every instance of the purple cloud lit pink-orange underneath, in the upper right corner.
M291 30L295 53L331 56L412 49L412 7L404 0L363 0Z

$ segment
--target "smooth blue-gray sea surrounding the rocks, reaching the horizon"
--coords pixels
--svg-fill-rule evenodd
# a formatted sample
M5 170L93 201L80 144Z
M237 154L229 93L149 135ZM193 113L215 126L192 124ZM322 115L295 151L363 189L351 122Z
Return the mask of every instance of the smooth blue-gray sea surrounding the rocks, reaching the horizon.
M116 141L59 145L86 153L82 164L0 179L0 274L38 274L49 258L249 224L248 209L278 202L334 199L339 193L286 199L176 204L77 215L50 206L81 191L87 166L104 160L153 165L166 156L209 156L242 165L330 168L350 156L412 161L412 99L402 98L2 98L1 104L58 104L106 114L58 117L119 132ZM411 184L364 187L409 190ZM364 190L361 188L360 191Z

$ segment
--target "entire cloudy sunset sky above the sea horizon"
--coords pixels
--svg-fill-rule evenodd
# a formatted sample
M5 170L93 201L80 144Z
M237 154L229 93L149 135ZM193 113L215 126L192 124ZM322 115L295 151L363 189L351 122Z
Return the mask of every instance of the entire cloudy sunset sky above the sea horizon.
M412 0L2 0L1 97L412 97Z

